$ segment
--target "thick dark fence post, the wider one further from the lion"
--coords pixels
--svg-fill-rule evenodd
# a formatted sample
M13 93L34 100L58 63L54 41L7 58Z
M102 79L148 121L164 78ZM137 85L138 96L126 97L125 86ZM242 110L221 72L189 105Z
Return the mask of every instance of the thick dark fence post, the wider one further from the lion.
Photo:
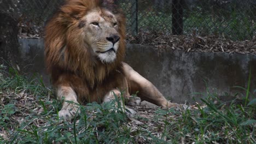
M172 1L172 34L181 35L183 33L183 5L184 0Z

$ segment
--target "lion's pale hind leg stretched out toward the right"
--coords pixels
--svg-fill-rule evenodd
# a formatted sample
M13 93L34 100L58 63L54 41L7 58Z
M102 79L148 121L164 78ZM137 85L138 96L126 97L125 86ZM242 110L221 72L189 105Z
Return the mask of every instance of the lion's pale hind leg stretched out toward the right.
M147 100L150 103L156 104L162 107L177 107L178 104L170 103L166 98L158 91L158 89L143 76L139 75L133 70L130 65L123 63L124 73L129 81L129 88L132 93L138 92L138 97L142 100Z

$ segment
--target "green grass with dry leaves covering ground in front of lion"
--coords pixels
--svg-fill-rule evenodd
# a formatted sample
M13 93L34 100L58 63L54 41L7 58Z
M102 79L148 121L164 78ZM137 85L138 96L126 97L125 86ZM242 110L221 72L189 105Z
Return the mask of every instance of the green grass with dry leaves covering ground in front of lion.
M40 78L10 70L0 76L0 143L256 143L256 99L247 102L208 94L187 110L130 106L133 118L114 101L91 103L66 122Z

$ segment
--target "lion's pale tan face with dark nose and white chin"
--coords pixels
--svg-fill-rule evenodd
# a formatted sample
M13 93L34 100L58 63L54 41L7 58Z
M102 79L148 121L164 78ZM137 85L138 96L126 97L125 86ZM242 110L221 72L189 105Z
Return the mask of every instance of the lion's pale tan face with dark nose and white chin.
M105 63L115 60L120 35L114 14L107 10L93 9L80 20L79 27L83 29L84 42L92 49L94 56Z

